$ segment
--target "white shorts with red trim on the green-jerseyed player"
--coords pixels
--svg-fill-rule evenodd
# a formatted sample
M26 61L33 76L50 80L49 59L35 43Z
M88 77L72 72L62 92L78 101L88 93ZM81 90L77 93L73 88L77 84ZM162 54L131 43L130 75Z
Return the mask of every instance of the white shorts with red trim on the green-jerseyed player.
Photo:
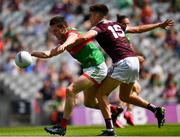
M83 75L90 78L97 86L99 86L102 80L107 76L108 68L105 62L98 66L92 66L83 69Z

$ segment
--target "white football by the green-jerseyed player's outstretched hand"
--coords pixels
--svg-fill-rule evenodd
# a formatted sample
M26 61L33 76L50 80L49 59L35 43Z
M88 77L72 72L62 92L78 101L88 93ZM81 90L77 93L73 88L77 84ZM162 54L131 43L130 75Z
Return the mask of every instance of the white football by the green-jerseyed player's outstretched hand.
M26 68L32 63L31 54L27 51L20 51L16 54L15 63L20 68Z

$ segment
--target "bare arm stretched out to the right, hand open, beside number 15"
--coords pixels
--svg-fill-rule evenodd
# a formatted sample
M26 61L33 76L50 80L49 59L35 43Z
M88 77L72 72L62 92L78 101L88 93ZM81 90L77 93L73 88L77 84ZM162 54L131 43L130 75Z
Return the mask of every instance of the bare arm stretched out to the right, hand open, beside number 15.
M139 25L134 27L128 26L127 33L142 33L159 27L162 29L167 29L168 27L171 27L173 25L174 25L174 21L171 19L167 19L166 21L161 23Z

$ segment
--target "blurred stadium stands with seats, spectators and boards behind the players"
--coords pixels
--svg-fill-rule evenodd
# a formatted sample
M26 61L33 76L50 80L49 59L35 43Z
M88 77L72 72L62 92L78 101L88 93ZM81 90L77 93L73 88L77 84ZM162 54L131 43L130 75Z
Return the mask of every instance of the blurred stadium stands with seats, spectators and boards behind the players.
M48 33L48 21L55 15L65 16L71 26L88 30L88 7L96 2L108 4L110 19L116 20L117 13L127 15L132 25L167 18L175 21L167 31L156 29L131 38L146 58L141 66L140 96L166 106L167 117L171 114L167 122L180 123L180 0L0 0L0 126L53 124L62 117L65 87L81 73L80 65L64 53L48 60L34 59L22 70L15 66L14 56L20 50L56 46ZM116 91L110 101L118 103ZM89 113L92 116L87 116ZM136 124L153 123L145 110L135 107L133 114L142 114ZM123 121L122 116L120 119ZM102 123L100 112L83 107L83 95L79 94L70 124Z

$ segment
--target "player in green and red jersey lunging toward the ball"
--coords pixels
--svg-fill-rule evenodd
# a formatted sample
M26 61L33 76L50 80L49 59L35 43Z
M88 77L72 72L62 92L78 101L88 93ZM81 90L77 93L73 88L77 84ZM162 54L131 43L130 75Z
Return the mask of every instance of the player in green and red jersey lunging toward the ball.
M92 39L81 44L73 44L66 48L63 45L73 43L82 32L67 25L63 17L57 16L50 20L50 32L55 35L59 41L62 41L56 48L49 51L34 51L32 56L38 58L50 58L61 54L67 50L72 57L78 60L83 66L83 75L66 88L66 103L64 116L58 125L45 128L51 134L65 135L67 121L70 119L71 112L75 105L75 95L81 91L84 92L84 103L91 108L99 109L96 96L97 87L107 75L107 66L102 52L96 47ZM111 106L112 114L118 116L123 111L122 108ZM111 121L110 121L111 122Z

